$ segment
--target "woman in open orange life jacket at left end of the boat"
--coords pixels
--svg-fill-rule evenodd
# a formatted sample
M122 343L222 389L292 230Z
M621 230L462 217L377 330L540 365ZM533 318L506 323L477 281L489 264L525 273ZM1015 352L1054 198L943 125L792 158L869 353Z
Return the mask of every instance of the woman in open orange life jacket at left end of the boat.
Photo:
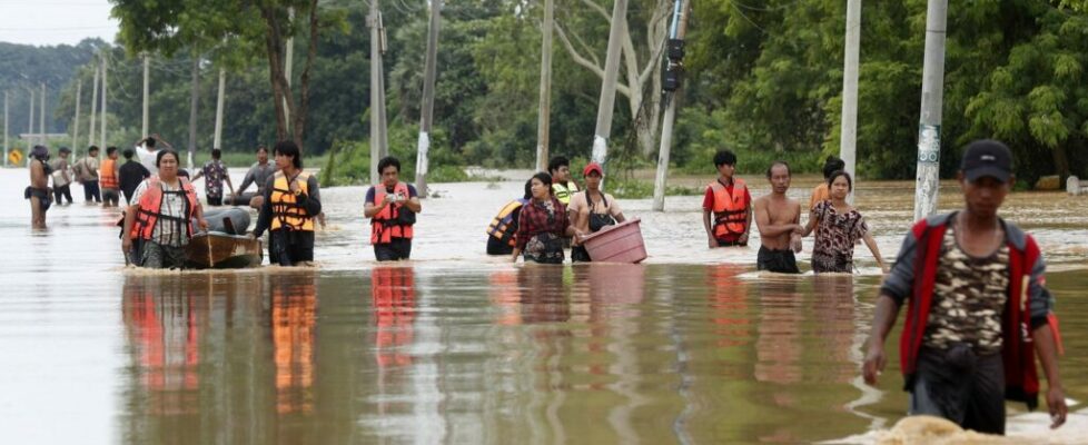
M137 239L139 255L132 258L137 266L181 268L185 246L195 233L192 219L201 230L208 229L208 221L192 185L178 176L177 151L159 150L155 161L159 175L136 188L133 204L125 212L121 248L130 253L132 240Z

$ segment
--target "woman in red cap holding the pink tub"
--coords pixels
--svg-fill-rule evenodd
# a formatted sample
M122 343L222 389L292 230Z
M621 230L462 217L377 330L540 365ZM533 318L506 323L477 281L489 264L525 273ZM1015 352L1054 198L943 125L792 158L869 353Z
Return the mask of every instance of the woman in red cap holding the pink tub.
M605 226L623 222L623 211L620 204L612 195L601 191L601 179L604 178L604 170L597 162L590 162L582 170L585 177L585 191L581 191L571 197L571 204L566 208L571 225L583 234L595 234ZM581 240L575 239L571 247L571 260L574 263L591 261L590 253Z

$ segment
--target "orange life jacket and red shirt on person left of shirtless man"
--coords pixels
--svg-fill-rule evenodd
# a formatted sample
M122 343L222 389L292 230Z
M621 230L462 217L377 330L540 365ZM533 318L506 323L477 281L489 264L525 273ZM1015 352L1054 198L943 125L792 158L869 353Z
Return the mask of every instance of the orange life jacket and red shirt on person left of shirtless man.
M752 195L743 180L734 178L729 184L718 178L706 186L703 210L713 212L712 227L719 246L746 246L739 243L748 233L748 212L752 208Z

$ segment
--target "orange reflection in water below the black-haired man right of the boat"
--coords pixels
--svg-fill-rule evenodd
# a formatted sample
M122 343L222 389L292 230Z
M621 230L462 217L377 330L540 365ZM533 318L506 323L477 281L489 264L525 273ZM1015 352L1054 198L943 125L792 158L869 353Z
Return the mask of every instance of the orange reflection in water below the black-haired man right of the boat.
M317 315L314 271L303 269L269 278L276 411L309 413L314 409L314 317Z

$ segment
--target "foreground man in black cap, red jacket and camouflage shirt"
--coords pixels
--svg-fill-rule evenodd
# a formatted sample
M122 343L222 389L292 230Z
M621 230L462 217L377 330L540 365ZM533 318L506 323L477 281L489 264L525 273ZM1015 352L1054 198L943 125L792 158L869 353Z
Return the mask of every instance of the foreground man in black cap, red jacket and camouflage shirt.
M907 305L900 362L910 414L1005 434L1005 399L1038 405L1035 356L1046 373L1051 428L1068 407L1045 264L1030 235L997 216L1013 184L1012 155L995 140L967 147L958 174L965 208L918 221L877 298L863 365L870 385L884 339Z

